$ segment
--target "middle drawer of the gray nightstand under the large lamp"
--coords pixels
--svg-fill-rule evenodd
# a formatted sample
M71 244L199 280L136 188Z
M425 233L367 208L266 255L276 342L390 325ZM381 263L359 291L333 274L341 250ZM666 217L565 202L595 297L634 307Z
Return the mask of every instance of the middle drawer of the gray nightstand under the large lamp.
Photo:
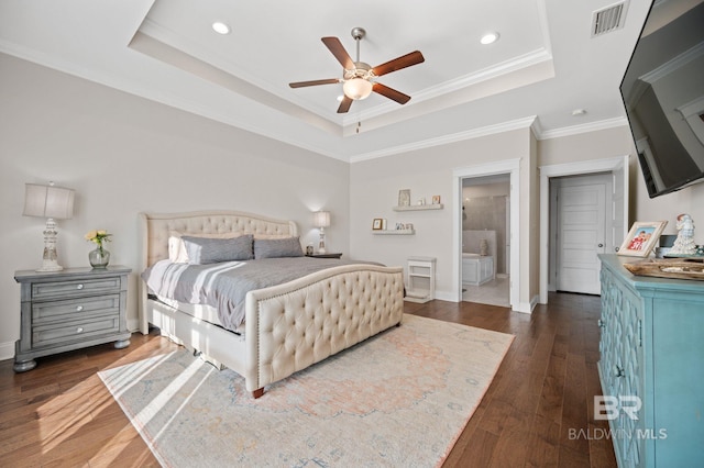
M32 303L33 325L51 323L57 320L84 320L105 314L113 314L116 316L120 314L120 294Z

